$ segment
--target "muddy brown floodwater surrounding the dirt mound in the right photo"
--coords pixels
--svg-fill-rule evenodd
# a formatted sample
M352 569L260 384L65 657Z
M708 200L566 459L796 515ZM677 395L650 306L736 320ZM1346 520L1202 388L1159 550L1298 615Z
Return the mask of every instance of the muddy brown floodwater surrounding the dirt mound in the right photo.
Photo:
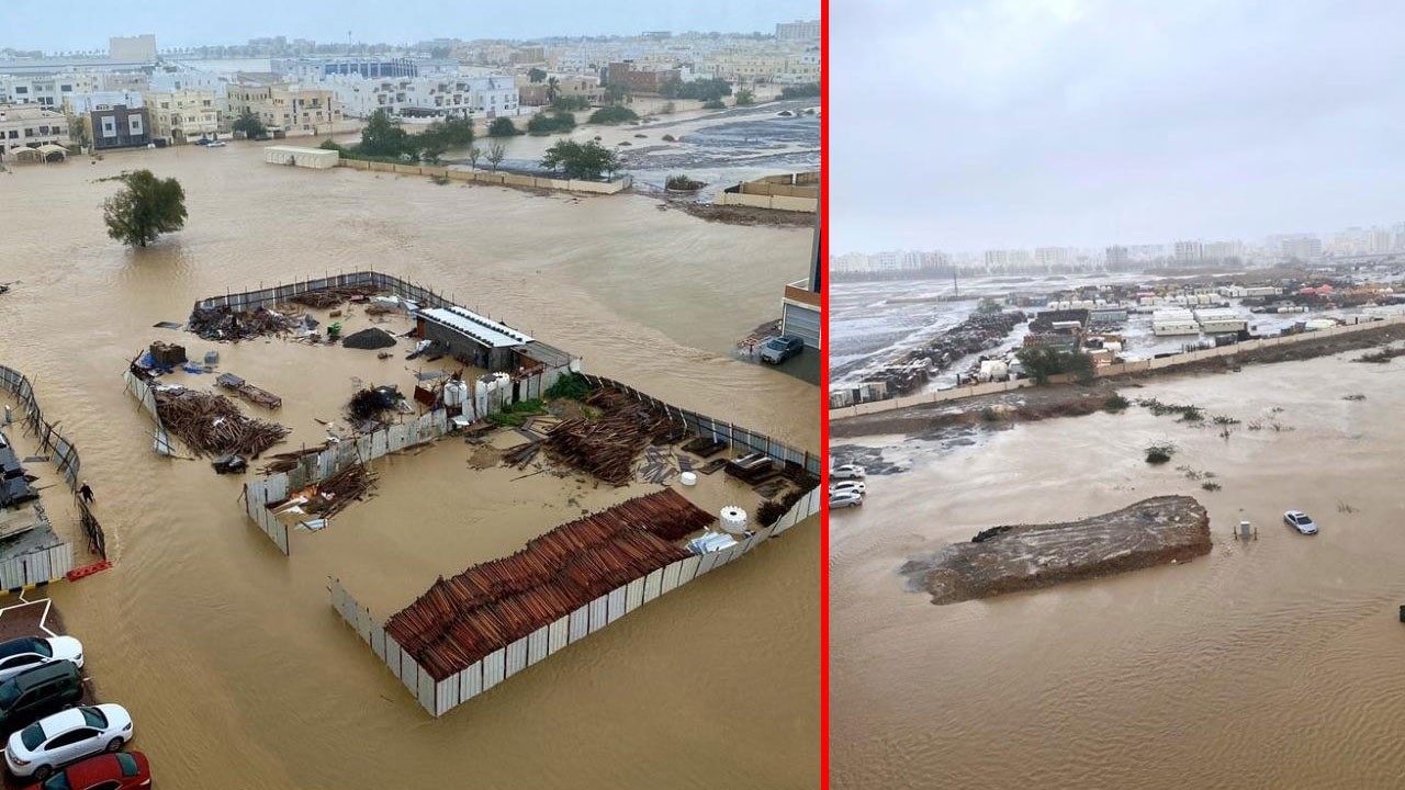
M836 787L1398 787L1405 365L1354 356L1127 392L1242 420L1228 441L1131 408L870 478L830 527ZM1172 462L1149 467L1165 440ZM1205 505L1208 557L953 606L896 574L991 524L1156 495ZM1287 509L1321 534L1290 530ZM1241 517L1259 540L1231 537Z

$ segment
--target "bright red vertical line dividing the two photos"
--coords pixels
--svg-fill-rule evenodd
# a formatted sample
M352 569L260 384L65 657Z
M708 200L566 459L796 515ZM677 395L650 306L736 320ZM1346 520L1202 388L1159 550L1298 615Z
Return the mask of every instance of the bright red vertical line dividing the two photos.
M819 4L819 783L829 787L829 0Z

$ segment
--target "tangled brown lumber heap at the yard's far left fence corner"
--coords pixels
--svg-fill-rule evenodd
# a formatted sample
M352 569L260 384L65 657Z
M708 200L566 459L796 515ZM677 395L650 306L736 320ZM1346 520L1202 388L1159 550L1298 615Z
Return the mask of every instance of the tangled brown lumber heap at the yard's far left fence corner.
M257 458L291 433L278 423L244 416L223 395L195 389L157 389L156 413L166 430L200 457L235 454Z

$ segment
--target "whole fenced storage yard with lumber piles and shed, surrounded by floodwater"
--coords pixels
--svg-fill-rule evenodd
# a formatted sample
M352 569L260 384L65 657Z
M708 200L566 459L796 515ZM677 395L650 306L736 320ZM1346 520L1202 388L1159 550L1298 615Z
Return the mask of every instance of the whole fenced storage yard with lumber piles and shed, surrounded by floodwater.
M249 522L434 715L819 512L818 455L385 274L153 329L124 374L153 450L243 475ZM285 365L316 385L277 392Z

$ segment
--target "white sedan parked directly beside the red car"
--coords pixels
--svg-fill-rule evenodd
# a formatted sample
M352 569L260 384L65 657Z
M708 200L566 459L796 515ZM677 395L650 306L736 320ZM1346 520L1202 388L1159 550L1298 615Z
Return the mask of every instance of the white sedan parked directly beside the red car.
M4 762L15 776L45 780L56 769L132 739L132 717L117 704L81 706L46 715L10 735Z

